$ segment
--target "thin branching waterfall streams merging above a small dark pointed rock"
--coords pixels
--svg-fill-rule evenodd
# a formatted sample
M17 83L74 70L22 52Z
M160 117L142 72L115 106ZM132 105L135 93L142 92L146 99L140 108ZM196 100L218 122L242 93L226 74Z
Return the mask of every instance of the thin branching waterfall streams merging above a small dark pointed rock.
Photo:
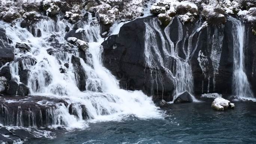
M191 35L186 34L186 37L183 37L183 28L182 23L179 19L176 19L178 22L178 41L176 45L172 42L170 38L170 24L164 29L161 30L159 25L157 24L156 19L151 19L149 22L145 22L146 25L146 33L145 33L145 48L144 48L144 56L146 60L147 67L150 68L151 73L155 73L155 79L152 76L152 85L158 80L162 82L162 74L157 70L160 67L164 68L165 73L168 79L174 83L175 91L174 91L174 99L182 92L188 91L193 95L193 76L192 69L190 64L190 58L195 53L195 50L198 45L198 41L196 42L195 47L192 46L192 38L196 33L199 33L199 27L201 27L201 22L196 25L196 28L192 31ZM157 36L158 33L161 39L161 48L158 46ZM166 39L165 39L166 37ZM179 43L182 43L182 48L179 48ZM185 46L185 42L188 41L188 46ZM162 49L162 52L161 50ZM183 50L183 54L185 55L185 59L179 56L179 49ZM154 59L156 58L156 59ZM172 66L171 64L175 66ZM160 64L160 65L159 65ZM172 72L173 71L173 72ZM162 87L164 87L163 83L161 83ZM197 101L195 97L193 97L194 101Z

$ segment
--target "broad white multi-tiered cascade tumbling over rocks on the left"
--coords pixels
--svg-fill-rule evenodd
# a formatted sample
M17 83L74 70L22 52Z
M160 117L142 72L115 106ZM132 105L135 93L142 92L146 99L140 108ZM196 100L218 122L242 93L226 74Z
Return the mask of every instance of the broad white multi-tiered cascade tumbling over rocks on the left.
M59 43L66 43L64 40L65 25L69 25L64 19L58 18L57 22L51 19L43 19L36 24L36 28L42 31L41 37L34 37L28 30L21 28L19 22L16 27L10 27L9 24L0 22L1 27L6 30L6 34L12 40L13 46L16 42L26 43L31 47L31 51L23 53L15 49L15 58L28 57L37 61L31 64L22 61L24 69L29 69L28 87L31 95L48 96L52 98L65 99L68 104L74 104L73 108L77 111L78 116L68 113L68 107L64 104L56 105L55 109L48 111L49 115L54 117L53 127L60 126L63 123L67 128L84 128L86 121L82 119L82 108L79 105L85 105L89 121L106 121L121 120L127 115L134 115L139 118L161 118L162 114L158 110L151 97L143 94L141 91L125 91L120 89L118 80L110 73L109 70L102 65L103 48L101 43L103 39L100 36L100 28L98 25L89 26L89 22L85 22L82 28L87 32L85 39L89 42L89 53L91 57L87 57L87 63L80 58L80 63L87 75L86 91L79 91L71 56L78 56L77 48L74 47L70 52L55 48L48 42L48 38L55 34ZM120 27L117 27L117 29ZM113 31L115 27L112 28ZM47 53L47 49L56 50L52 55ZM64 67L68 63L69 68ZM10 64L12 77L18 76L17 62ZM64 68L66 73L60 73L59 68ZM102 92L101 92L102 91ZM40 102L38 102L40 104ZM47 103L46 103L47 104ZM20 115L22 115L20 113ZM19 116L21 117L21 116ZM18 119L18 117L17 117ZM22 122L19 121L19 126Z

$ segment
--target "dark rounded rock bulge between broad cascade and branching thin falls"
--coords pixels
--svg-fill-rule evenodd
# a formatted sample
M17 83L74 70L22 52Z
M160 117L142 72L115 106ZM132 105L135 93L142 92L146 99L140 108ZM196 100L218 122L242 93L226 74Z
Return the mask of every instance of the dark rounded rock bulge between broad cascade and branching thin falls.
M167 80L163 69L155 71L164 77L164 87L157 85L160 81L152 83L151 76L155 79L144 59L144 21L151 18L137 19L121 27L118 35L110 36L102 43L104 66L109 69L118 79L122 88L130 90L143 90L147 94L161 96L171 95L174 90L172 82ZM157 99L158 97L156 97ZM170 101L171 97L165 97Z

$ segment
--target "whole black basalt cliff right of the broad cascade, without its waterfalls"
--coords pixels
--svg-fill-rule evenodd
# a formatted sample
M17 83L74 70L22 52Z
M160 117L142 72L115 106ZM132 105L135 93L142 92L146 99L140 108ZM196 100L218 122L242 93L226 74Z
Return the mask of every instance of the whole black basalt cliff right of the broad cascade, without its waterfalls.
M176 87L175 82L165 79L164 88L161 88L160 82L158 82L158 86L150 86L152 83L150 76L154 74L145 65L144 58L145 22L149 19L152 17L136 19L124 24L118 35L112 35L102 43L104 66L120 79L120 85L123 88L143 90L147 94L153 94L155 99L161 99L163 95L165 100L170 101ZM170 33L165 33L164 39L168 41L166 36L170 37L174 49L177 48L179 57L184 60L186 59L184 49L187 51L191 47L189 64L192 69L194 94L213 92L232 94L234 59L232 22L227 20L223 25L207 26L207 24L200 23L199 20L181 25L179 21L176 17L167 26L170 28ZM158 25L160 24L158 23ZM246 74L252 87L255 88L255 74L253 73L255 71L255 50L253 45L256 43L256 38L250 33L250 24L246 23L245 28ZM159 31L164 33L164 27L161 27ZM182 33L182 39L179 38L179 33ZM159 33L156 33L156 40L161 51L162 45L159 39ZM175 69L175 67L174 64L172 68ZM176 73L175 70L171 71L173 74ZM156 73L158 72L163 77L166 76L165 71L161 68L156 71Z

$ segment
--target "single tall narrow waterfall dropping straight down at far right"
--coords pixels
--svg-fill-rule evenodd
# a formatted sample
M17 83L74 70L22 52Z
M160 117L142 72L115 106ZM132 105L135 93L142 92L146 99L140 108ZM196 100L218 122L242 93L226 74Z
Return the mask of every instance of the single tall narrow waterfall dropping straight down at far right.
M228 18L233 24L233 93L235 96L240 96L242 98L253 98L253 92L244 69L245 26L236 18L231 16Z

